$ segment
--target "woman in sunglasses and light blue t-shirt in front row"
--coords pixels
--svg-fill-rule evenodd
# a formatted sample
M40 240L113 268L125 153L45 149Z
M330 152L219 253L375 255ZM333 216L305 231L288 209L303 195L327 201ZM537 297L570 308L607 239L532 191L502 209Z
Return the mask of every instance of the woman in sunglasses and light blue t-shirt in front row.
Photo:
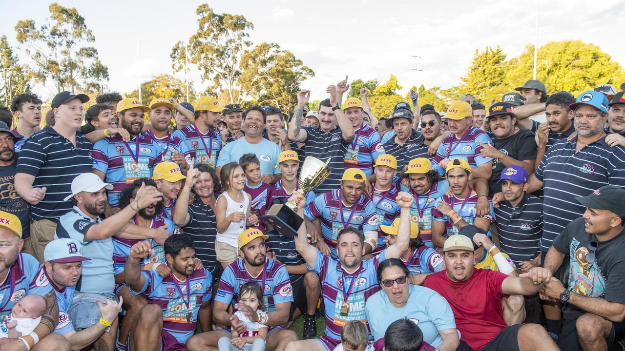
M377 268L382 290L369 297L365 306L373 339L384 337L392 322L405 317L419 326L424 342L437 350L470 350L466 344L460 345L456 320L447 301L434 290L409 284L409 275L400 259L386 259Z

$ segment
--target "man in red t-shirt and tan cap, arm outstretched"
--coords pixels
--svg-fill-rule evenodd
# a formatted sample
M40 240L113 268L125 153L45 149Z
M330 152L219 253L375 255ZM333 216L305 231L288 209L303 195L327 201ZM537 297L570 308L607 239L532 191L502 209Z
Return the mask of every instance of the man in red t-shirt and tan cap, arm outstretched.
M519 277L509 277L494 270L474 269L473 242L465 235L450 235L443 251L447 269L428 275L423 285L449 302L456 328L473 350L559 350L541 325L508 327L501 314L502 297L536 294L551 279L549 271L534 267Z

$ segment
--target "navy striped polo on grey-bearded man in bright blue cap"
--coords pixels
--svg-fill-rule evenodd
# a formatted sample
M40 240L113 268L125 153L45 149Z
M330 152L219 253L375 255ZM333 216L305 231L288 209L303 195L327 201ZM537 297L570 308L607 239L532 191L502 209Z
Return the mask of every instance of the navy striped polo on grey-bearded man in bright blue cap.
M548 251L553 239L586 207L575 198L587 196L603 185L625 187L625 149L609 147L605 137L575 152L577 137L556 142L534 174L543 182L544 225L541 250Z

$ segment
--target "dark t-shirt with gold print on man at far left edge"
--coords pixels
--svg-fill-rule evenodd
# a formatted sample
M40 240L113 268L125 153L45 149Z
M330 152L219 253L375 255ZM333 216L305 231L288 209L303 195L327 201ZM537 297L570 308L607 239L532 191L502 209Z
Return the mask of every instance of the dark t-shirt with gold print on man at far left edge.
M22 223L22 239L31 237L31 210L15 191L14 177L17 159L11 166L0 167L0 210L14 214Z

